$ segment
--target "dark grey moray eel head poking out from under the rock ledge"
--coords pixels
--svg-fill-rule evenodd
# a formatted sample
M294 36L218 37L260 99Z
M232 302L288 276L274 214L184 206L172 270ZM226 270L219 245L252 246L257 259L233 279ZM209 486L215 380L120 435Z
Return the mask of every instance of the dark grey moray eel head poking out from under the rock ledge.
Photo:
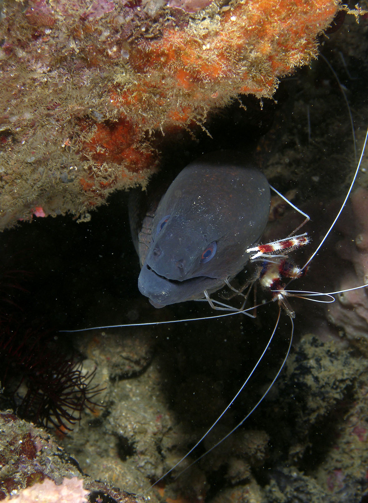
M186 166L138 236L139 291L155 307L204 297L246 265L270 208L264 175L220 151Z

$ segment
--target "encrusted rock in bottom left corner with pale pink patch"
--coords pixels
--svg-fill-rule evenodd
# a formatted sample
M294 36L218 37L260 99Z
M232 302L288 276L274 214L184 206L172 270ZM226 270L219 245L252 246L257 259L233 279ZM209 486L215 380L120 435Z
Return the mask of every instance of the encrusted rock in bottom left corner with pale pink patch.
M143 498L83 475L77 461L49 433L11 411L0 411L0 500L142 503Z

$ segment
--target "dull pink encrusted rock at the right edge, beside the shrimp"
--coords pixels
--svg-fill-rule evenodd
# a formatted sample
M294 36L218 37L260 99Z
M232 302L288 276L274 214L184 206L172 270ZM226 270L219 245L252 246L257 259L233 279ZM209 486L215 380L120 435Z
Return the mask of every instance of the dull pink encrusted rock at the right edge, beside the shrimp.
M343 234L336 245L336 252L344 263L344 274L338 290L354 288L368 283L368 191L358 189L351 197L350 209L338 221L338 230ZM368 296L366 288L337 295L333 304L328 304L327 315L335 325L342 327L346 336L361 340L365 351L368 346ZM365 344L364 344L365 342Z

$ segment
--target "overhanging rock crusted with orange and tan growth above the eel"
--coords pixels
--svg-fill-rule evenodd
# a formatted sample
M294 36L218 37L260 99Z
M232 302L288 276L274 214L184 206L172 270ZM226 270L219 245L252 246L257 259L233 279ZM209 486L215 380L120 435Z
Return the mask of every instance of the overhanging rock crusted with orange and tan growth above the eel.
M337 0L7 0L0 26L0 229L79 215L145 185L162 134L239 93L270 97L317 54Z

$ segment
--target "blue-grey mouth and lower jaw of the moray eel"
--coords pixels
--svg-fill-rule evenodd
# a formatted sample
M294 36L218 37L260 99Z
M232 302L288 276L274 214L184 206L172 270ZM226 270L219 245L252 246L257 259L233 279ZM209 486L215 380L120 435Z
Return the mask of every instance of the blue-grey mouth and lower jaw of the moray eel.
M183 300L204 298L204 290L213 292L224 286L223 279L196 276L183 280L172 280L157 274L144 264L138 278L138 289L150 299L154 307L164 307Z

